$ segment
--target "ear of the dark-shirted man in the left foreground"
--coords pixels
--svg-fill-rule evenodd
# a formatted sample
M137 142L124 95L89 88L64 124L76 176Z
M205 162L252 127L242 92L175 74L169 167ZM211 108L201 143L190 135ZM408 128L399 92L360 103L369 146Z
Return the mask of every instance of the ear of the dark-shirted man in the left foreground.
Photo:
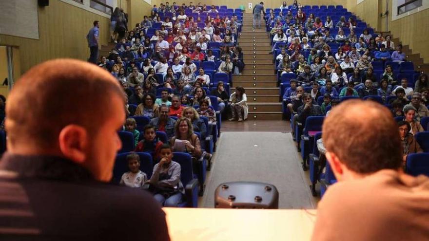
M81 126L68 125L59 132L59 148L67 159L83 163L87 158L88 132Z

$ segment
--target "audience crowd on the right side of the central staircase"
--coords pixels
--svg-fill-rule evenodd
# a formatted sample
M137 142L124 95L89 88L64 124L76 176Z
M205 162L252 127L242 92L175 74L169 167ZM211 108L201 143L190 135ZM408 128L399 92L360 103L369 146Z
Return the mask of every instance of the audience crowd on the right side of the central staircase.
M409 86L412 80L397 79L389 64L385 65L380 80L371 65L373 61L383 64L406 61L402 46L395 49L390 36L373 37L369 29L357 37L353 17L346 20L342 16L335 23L327 16L323 23L313 13L307 17L296 1L292 6L284 3L282 7L276 14L270 9L265 19L268 29L273 26L273 51L282 43L280 53L275 56L277 71L280 76L293 76L282 95L286 110L291 113L292 127L298 122L304 124L308 116L328 115L341 97L369 99L386 105L397 120L402 117L398 125L402 131L404 164L409 153L422 152L414 135L424 131L420 120L429 116L428 75L420 73L415 85ZM283 15L285 11L287 14ZM296 14L292 15L292 11ZM350 35L344 34L345 29ZM334 37L330 34L332 30L338 31ZM336 53L331 51L329 43L339 43ZM304 57L307 51L309 56Z

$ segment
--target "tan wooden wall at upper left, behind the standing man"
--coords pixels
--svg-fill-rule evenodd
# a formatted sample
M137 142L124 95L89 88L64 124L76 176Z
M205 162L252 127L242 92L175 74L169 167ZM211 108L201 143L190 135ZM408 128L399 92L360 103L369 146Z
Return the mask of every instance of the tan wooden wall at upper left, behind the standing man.
M110 19L62 1L50 1L48 7L39 8L39 40L1 35L0 44L20 48L21 73L48 59L86 60L89 56L86 35L94 20L100 21L100 43L106 45Z

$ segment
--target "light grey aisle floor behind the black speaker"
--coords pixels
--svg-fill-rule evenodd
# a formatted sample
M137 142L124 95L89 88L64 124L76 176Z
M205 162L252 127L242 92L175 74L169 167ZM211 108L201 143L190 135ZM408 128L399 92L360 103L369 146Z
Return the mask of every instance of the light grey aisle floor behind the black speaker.
M200 206L214 207L223 182L256 181L277 187L279 208L315 208L291 133L222 132L219 141Z

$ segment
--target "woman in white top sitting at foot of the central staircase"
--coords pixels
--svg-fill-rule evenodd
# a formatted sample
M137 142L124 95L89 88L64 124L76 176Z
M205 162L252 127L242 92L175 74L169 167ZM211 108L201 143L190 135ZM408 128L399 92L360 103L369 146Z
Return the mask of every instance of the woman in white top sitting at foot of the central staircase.
M231 118L230 121L238 118L238 121L243 121L247 119L249 114L249 107L247 106L247 96L246 91L243 87L235 87L235 92L230 96L231 102Z

